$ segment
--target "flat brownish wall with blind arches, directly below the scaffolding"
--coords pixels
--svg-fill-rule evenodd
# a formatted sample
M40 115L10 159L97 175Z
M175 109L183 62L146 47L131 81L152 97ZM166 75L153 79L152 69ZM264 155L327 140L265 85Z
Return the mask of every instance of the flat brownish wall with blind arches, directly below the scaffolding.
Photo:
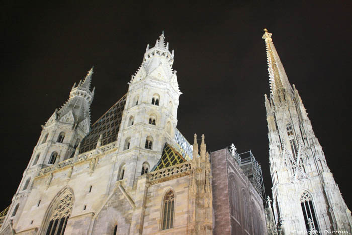
M213 234L267 234L263 201L228 149L210 154Z

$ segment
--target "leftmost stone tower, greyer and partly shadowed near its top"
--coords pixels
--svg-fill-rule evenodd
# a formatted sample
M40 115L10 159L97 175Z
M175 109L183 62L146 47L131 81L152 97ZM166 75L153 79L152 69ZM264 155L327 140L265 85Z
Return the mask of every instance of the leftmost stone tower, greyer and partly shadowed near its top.
M80 141L89 132L90 105L94 96L94 88L90 91L92 74L93 68L77 86L76 83L73 85L66 103L42 125L39 140L12 199L8 217L22 213L39 171L72 158Z

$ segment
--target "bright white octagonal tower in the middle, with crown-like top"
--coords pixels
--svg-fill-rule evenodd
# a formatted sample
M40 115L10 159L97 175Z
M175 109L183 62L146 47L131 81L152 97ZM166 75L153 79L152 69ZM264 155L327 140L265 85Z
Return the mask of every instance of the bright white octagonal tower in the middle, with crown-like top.
M126 174L127 187L133 186L142 169L150 170L158 162L165 143L175 143L181 92L172 69L173 58L174 51L169 51L162 33L154 47L147 45L142 64L128 83L117 136L119 159L125 162L119 175L122 171Z

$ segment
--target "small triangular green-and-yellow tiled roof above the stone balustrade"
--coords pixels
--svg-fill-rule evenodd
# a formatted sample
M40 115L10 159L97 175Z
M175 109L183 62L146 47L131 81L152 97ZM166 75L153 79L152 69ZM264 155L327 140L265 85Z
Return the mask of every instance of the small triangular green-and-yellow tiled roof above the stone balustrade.
M168 143L165 143L164 149L162 150L161 158L151 171L171 167L173 165L177 165L186 161L187 160L177 150L171 147Z

